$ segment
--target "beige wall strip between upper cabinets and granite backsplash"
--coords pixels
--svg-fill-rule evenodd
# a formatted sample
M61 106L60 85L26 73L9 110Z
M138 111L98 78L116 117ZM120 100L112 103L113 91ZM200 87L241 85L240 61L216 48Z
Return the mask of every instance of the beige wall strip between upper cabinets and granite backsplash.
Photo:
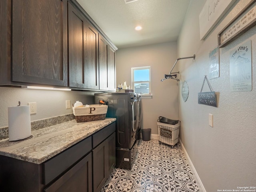
M37 113L31 114L31 121L73 113L66 109L66 100L74 104L76 100L83 104L94 104L94 92L29 90L22 88L0 87L0 127L8 126L8 107L36 102Z

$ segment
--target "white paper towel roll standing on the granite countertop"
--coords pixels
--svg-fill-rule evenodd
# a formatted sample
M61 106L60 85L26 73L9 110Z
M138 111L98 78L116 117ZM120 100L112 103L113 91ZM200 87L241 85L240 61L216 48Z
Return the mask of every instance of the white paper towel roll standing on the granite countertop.
M30 106L8 107L9 141L31 136Z

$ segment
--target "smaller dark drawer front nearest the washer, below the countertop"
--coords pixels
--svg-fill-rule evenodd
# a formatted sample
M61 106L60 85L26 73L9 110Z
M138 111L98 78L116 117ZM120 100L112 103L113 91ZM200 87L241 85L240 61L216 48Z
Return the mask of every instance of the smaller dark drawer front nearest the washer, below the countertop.
M116 130L116 123L112 123L96 134L92 135L92 148L96 147Z

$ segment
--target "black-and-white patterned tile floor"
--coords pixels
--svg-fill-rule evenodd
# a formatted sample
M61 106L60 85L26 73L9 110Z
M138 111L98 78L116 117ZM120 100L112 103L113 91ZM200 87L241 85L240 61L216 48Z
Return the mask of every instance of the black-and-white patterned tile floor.
M114 168L100 192L199 192L178 143L142 141L131 170Z

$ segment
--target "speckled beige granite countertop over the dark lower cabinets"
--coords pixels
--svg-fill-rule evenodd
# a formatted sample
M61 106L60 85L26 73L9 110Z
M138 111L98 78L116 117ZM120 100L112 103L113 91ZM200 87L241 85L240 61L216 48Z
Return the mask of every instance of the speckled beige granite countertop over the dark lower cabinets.
M71 120L32 131L32 138L27 140L4 139L0 141L0 155L41 164L114 121L115 118L82 123Z

